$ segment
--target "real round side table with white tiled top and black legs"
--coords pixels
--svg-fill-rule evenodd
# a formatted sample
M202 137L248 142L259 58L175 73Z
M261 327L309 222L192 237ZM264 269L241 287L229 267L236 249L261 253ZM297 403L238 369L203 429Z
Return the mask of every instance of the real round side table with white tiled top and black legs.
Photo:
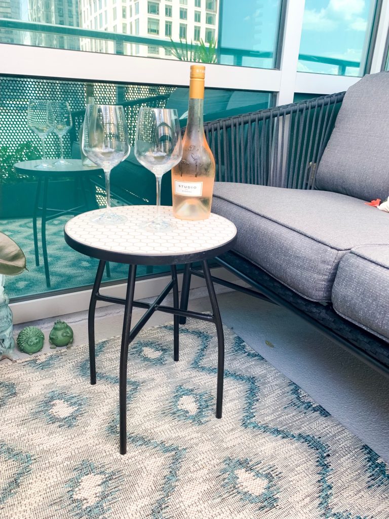
M145 224L155 216L154 206L117 207L113 211L127 217L120 225L100 225L91 219L99 215L102 209L82 213L72 218L65 225L65 241L70 247L82 254L98 258L99 267L94 281L88 316L89 360L91 384L96 383L94 314L97 301L124 305L123 331L120 349L119 375L119 422L120 422L120 454L127 452L127 358L132 340L142 330L152 314L158 310L174 315L174 360L178 361L179 318L192 317L213 322L216 326L218 344L216 417L221 418L223 406L224 379L224 334L219 307L207 260L223 254L232 248L237 229L234 224L216 214L207 220L187 221L173 217L171 207L161 207L165 220L170 220L174 230L165 233L152 232L145 229ZM125 299L111 297L99 293L105 263L113 261L127 263L129 267L127 294ZM177 264L201 262L205 283L212 306L209 313L187 310L187 295L178 297ZM172 279L155 299L154 303L134 301L136 266L137 265L170 265ZM189 269L190 270L190 269ZM189 272L186 269L186 272ZM187 280L189 278L187 277ZM189 282L185 282L189 292ZM162 305L163 299L173 291L173 307ZM144 308L146 311L131 329L132 308Z

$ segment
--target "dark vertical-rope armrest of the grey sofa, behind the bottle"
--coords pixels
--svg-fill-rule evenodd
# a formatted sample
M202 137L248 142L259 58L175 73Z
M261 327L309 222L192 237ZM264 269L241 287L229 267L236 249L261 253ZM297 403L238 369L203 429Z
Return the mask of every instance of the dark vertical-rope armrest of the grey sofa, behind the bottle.
M216 180L311 189L344 92L206 122Z

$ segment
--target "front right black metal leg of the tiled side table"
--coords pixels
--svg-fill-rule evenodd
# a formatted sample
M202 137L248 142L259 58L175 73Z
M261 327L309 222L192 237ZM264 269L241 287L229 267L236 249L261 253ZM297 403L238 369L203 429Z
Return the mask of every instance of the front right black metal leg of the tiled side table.
M217 389L216 389L216 418L221 418L223 409L223 382L224 382L224 333L223 324L221 323L219 305L217 304L217 298L215 289L212 282L210 267L206 260L202 262L203 272L208 294L211 300L213 318L216 326L217 334Z

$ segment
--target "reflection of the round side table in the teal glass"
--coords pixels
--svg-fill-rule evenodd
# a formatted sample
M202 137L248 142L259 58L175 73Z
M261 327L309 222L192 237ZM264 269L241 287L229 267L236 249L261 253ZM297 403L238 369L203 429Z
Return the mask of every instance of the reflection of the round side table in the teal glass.
M88 211L93 208L92 205L92 187L90 183L90 175L103 173L103 170L98 166L89 167L83 166L81 159L66 159L68 162L63 166L55 166L55 160L49 160L48 162L53 166L47 169L37 169L41 163L41 160L24 160L23 162L17 162L13 168L17 173L33 175L38 180L36 188L34 213L33 213L33 231L34 231L34 250L35 250L35 265L39 267L39 245L38 245L38 229L37 229L37 218L40 213L40 233L41 243L43 251L43 263L45 267L46 286L50 288L50 271L49 271L49 260L47 256L47 244L46 244L46 222L61 216L62 214L78 214L82 211ZM50 209L47 207L48 203L48 186L50 180L57 180L63 177L74 177L74 179L80 183L80 190L82 197L84 198L83 203L77 207L70 209ZM88 196L89 194L89 196ZM39 206L39 202L41 206ZM94 202L94 207L96 207Z

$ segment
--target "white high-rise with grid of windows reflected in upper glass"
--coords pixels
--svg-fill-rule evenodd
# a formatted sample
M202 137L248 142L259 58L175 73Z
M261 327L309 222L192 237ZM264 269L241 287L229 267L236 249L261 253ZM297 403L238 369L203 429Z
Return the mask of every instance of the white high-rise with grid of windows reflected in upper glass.
M85 29L133 34L155 39L155 45L84 40L82 50L135 56L174 58L163 42L215 42L220 0L80 0L80 24Z

